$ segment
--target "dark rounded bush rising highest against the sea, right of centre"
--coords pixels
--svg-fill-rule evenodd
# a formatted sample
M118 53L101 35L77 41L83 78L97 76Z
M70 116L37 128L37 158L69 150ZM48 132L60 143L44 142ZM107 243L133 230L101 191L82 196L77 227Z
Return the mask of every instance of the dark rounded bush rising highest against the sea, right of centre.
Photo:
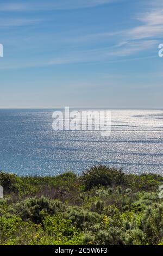
M100 165L87 169L82 173L80 180L86 190L90 190L96 186L123 185L126 183L125 177L121 169Z

